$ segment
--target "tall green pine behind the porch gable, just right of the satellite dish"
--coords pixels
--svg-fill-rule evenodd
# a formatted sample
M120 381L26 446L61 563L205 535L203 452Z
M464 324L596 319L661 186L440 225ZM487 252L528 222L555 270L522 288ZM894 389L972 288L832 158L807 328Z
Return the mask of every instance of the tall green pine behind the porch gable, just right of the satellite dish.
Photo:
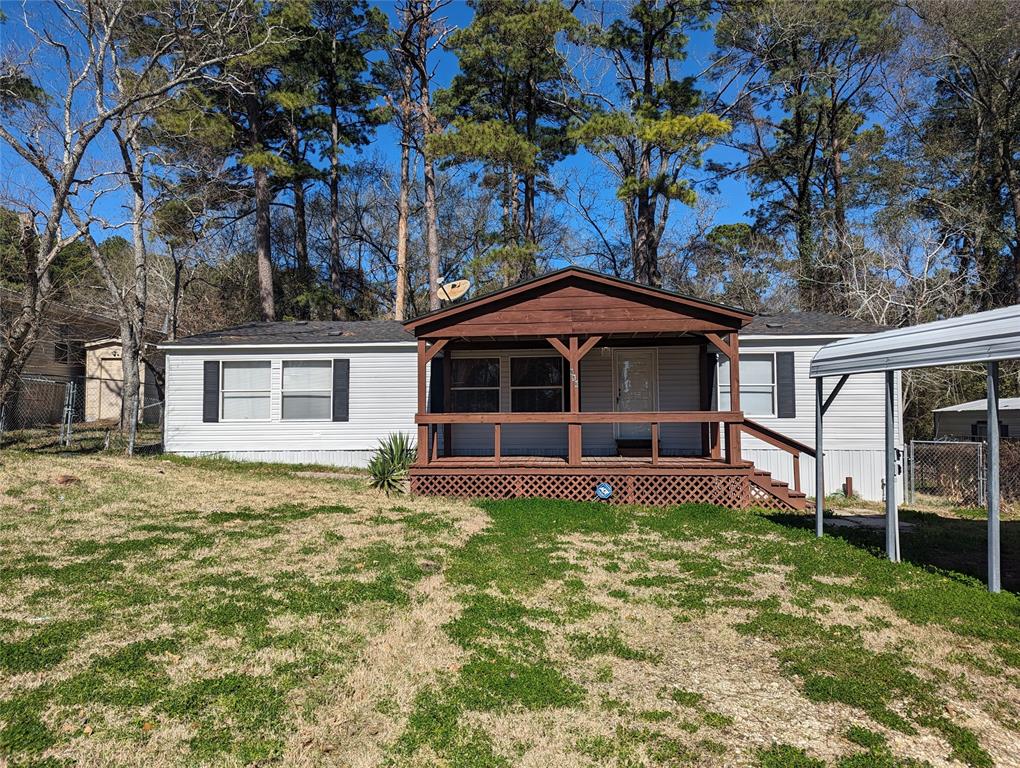
M452 162L479 162L502 191L504 279L532 276L539 252L536 201L549 169L573 150L570 73L557 39L576 27L559 0L472 0L471 23L450 36L460 72L437 94L451 129L430 149Z

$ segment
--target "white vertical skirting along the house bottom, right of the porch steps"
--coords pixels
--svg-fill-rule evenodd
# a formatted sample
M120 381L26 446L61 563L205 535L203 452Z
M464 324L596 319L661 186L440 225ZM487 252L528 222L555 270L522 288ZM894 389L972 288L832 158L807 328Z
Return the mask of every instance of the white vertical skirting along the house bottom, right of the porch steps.
M794 459L785 451L775 448L747 448L742 458L753 461L759 469L771 472L777 480L794 485ZM897 477L897 498L903 501L903 462L899 462L901 474ZM847 477L854 478L854 493L868 501L880 502L885 498L883 478L885 457L881 450L842 449L825 452L825 494L834 494L843 489ZM815 460L810 456L801 457L801 490L808 496L815 495Z

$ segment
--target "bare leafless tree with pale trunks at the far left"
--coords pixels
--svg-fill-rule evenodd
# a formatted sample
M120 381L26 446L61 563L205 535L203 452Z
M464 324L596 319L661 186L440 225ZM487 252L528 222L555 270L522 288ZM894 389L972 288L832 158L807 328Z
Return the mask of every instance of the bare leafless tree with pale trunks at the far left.
M136 241L136 290L130 295L115 292L112 274L104 275L104 280L121 318L124 342L138 349L141 337L135 337L144 331L147 263L138 126L176 89L200 80L215 64L256 51L271 34L263 32L257 39L249 36L253 9L245 0L227 0L215 8L186 0L152 6L130 0L54 0L53 8L54 13L38 29L24 15L23 25L37 55L0 67L4 72L0 78L4 116L0 139L42 177L48 193L45 207L22 206L24 288L20 311L7 324L0 350L0 403L10 396L35 347L55 259L80 238L87 240L95 256L98 248L92 227L109 223L94 215L95 203L113 191L118 178L128 180L133 199L130 224ZM125 36L143 13L145 53L129 60ZM196 35L196 30L201 34ZM47 71L52 61L57 62L57 71ZM59 96L42 96L38 84L43 82L48 93ZM90 151L110 134L121 152L120 168L90 161ZM102 272L102 260L97 260L97 267ZM137 360L135 355L135 373L128 376L137 376ZM125 363L132 365L130 360ZM134 399L137 413L135 389L126 399Z

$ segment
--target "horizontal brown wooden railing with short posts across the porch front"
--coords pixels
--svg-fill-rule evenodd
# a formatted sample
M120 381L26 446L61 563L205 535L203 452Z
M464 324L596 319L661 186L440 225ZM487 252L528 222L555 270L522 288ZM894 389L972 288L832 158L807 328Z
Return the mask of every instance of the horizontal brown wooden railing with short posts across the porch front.
M568 433L567 463L580 463L580 427L582 424L651 424L652 427L652 464L659 463L659 426L660 424L716 424L720 422L727 426L727 454L730 463L740 460L740 451L730 448L740 440L738 427L744 422L741 411L569 411L540 413L418 413L415 416L418 424L418 446L426 450L418 450L418 461L428 464L439 458L439 429L446 424L493 424L493 462L500 463L502 457L502 427L504 424L567 424Z

